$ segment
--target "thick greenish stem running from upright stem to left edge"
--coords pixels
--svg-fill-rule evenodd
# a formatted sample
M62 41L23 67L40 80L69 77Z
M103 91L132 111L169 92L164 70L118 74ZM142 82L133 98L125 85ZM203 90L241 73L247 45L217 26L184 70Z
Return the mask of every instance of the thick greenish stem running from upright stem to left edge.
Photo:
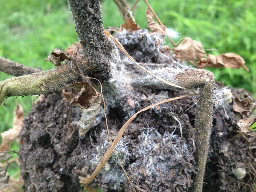
M82 66L80 65L80 67ZM78 71L74 64L71 65L70 62L67 62L48 71L12 77L0 82L0 105L6 97L39 95L55 91L58 87L70 83L80 76L72 68ZM86 63L83 68L86 68Z

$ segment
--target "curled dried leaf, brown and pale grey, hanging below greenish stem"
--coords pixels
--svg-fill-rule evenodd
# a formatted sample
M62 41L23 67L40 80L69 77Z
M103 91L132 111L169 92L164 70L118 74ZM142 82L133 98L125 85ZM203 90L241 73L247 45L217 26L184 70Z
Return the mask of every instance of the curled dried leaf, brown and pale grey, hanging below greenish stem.
M86 134L100 110L100 93L89 85L84 85L81 91L71 100L70 104L82 108L82 116L77 127L79 128L79 137Z

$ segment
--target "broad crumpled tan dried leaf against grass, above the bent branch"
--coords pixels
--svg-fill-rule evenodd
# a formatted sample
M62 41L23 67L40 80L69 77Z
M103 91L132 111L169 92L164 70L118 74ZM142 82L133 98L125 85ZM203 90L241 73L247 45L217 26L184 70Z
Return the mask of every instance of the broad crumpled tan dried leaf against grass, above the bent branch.
M178 47L174 47L173 53L185 61L199 60L205 56L202 43L189 37L185 37Z

